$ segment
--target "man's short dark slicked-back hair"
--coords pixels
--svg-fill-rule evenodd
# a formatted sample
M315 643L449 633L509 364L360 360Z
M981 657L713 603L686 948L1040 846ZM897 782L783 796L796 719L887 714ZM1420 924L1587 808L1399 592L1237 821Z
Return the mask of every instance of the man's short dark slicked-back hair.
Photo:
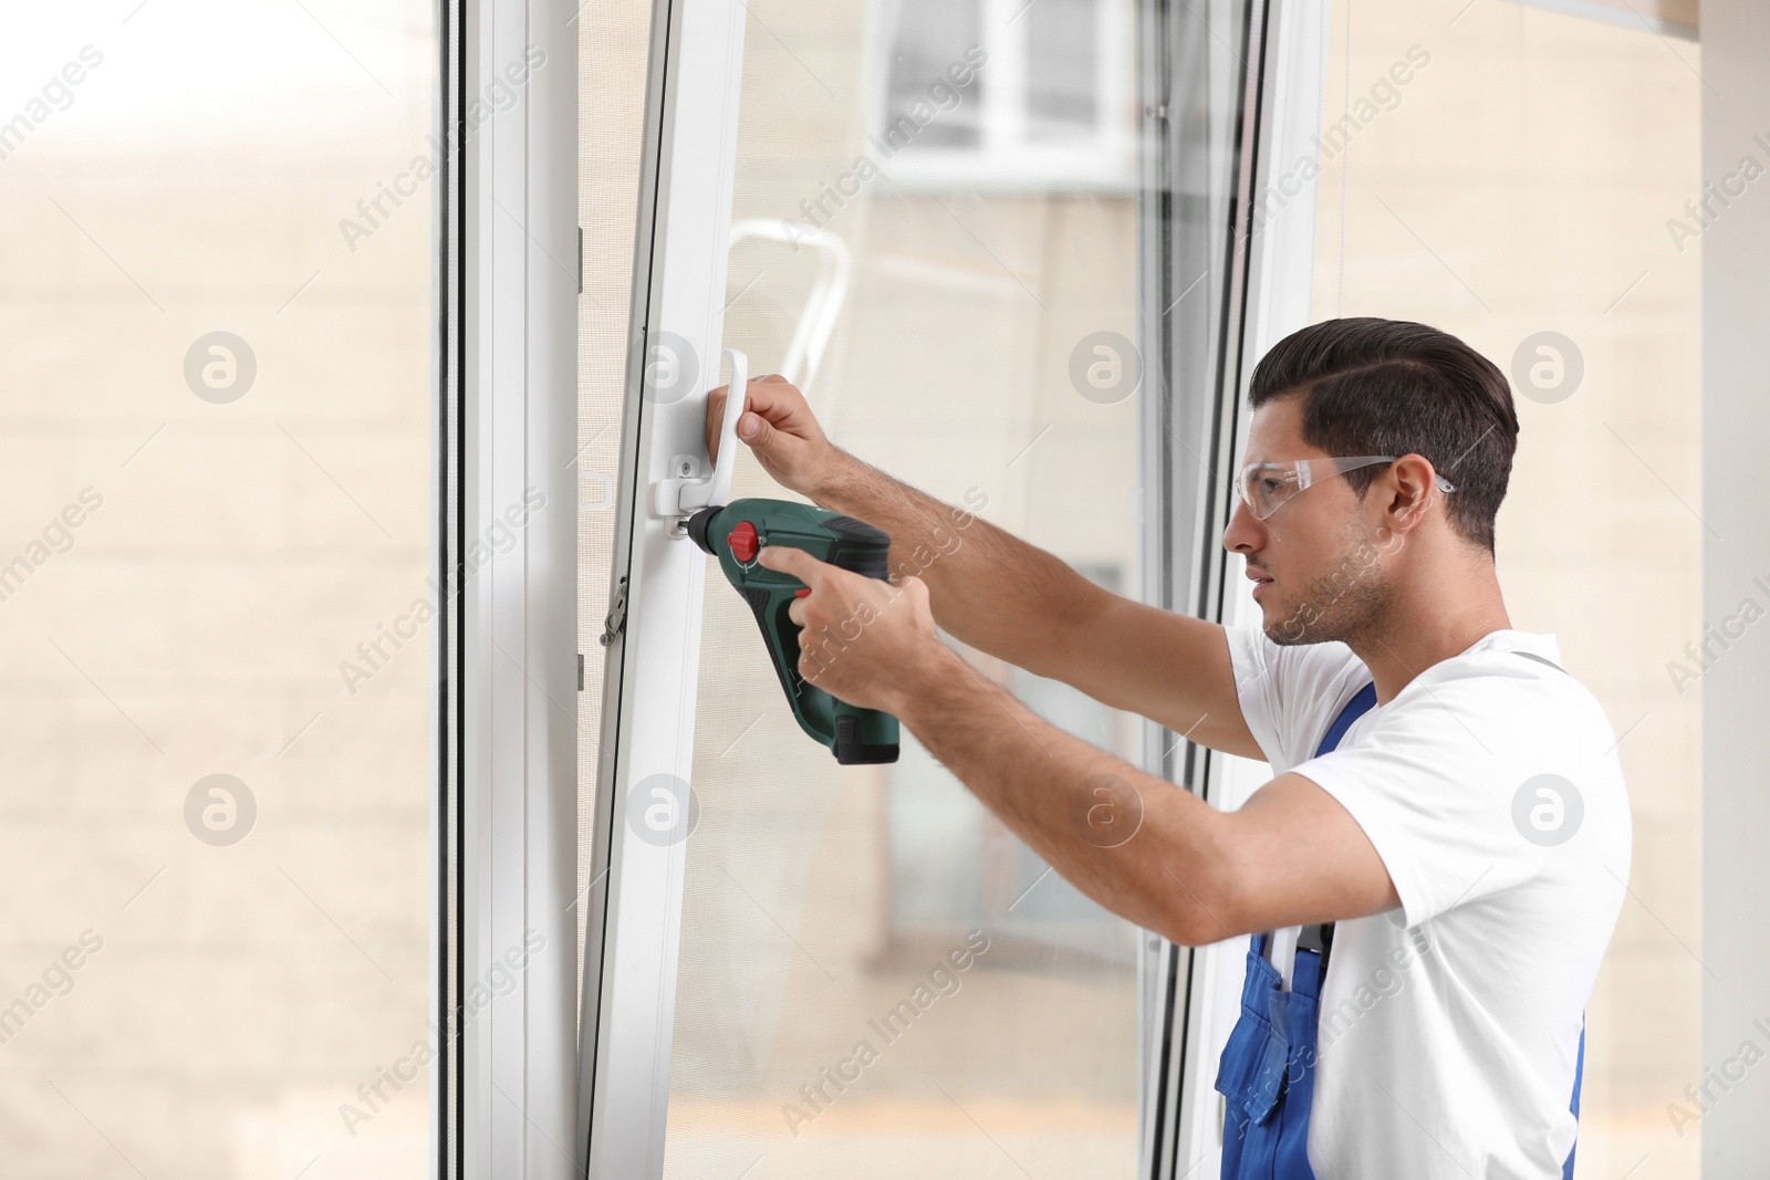
M1290 333L1253 366L1253 409L1290 395L1303 395L1303 441L1328 455L1427 456L1457 485L1443 501L1451 525L1494 552L1519 416L1492 361L1425 324L1322 320ZM1363 497L1381 471L1361 467L1345 479Z

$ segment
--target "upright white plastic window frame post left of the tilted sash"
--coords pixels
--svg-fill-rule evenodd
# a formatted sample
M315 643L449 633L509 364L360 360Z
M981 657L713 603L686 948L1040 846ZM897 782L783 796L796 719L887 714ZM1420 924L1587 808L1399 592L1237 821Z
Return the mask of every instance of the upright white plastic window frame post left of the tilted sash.
M446 0L435 134L435 1176L582 1176L577 25ZM487 538L497 543L487 543ZM581 1155L581 1152L579 1152Z

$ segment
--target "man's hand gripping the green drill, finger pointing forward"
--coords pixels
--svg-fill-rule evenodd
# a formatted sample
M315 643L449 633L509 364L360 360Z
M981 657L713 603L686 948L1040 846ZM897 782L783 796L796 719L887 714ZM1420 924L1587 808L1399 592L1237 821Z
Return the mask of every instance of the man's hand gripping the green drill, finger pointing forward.
M837 701L897 715L958 658L935 632L919 577L869 579L788 545L765 545L758 561L811 587L786 610L802 628L798 674Z

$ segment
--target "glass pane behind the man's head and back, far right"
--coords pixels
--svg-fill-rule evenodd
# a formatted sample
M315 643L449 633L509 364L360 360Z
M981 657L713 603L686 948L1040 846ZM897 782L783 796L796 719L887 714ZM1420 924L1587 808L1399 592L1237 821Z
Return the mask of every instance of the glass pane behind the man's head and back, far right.
M1512 4L1439 35L1414 4L1359 0L1347 67L1343 9L1315 317L1423 320L1512 377L1499 580L1513 626L1554 632L1605 706L1635 803L1630 897L1586 1010L1577 1168L1694 1178L1701 1125L1667 1104L1696 1115L1703 1077L1703 690L1658 669L1703 637L1703 251L1667 225L1696 228L1701 51Z

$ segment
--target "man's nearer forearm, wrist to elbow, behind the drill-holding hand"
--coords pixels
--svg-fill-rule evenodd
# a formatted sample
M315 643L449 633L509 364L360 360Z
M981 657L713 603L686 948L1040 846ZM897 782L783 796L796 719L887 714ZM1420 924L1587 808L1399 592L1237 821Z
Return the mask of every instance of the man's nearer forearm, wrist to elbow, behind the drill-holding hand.
M1184 945L1235 932L1214 916L1227 883L1216 808L1057 729L950 647L942 653L897 716L991 812L1136 925Z

